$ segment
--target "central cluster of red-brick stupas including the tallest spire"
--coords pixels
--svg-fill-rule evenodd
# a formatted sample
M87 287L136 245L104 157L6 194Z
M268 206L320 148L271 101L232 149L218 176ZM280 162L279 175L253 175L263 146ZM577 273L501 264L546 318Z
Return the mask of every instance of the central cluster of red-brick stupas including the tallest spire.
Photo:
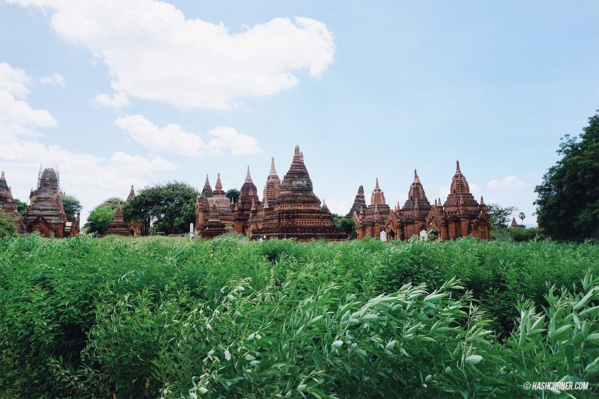
M202 193L209 191L207 178ZM314 194L299 146L295 147L291 166L282 181L277 175L274 159L271 159L262 201L259 200L249 167L237 203L233 204L225 197L220 174L212 197L198 197L196 232L199 236L210 238L231 231L251 234L253 237L295 238L304 242L313 239L347 239L347 234L335 226L326 204L321 203Z

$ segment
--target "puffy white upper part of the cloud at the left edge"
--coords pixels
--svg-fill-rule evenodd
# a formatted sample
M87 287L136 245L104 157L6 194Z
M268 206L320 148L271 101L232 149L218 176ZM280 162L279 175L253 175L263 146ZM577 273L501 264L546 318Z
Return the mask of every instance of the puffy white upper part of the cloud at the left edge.
M16 136L41 136L41 127L58 124L46 109L34 109L25 101L32 78L23 69L0 63L0 130L5 141Z

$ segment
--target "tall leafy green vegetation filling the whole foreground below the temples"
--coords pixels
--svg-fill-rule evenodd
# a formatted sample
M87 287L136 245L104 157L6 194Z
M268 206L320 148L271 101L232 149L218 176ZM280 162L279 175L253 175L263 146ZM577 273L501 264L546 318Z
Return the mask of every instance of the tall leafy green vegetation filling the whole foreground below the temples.
M0 239L4 397L594 397L599 246ZM586 391L526 382L589 382Z

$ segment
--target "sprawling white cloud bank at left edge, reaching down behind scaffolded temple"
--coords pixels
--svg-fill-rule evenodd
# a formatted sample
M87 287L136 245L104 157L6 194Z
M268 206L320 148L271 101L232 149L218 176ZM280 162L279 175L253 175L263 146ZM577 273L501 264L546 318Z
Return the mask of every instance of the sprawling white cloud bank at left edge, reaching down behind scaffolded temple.
M129 186L143 187L153 173L177 166L159 156L134 156L117 151L110 157L66 151L58 145L35 140L38 129L58 124L46 109L34 109L25 101L32 78L23 69L0 63L0 162L13 196L26 200L37 179L40 162L59 164L60 185L84 206L83 218L99 199L125 197ZM17 99L19 98L19 99Z

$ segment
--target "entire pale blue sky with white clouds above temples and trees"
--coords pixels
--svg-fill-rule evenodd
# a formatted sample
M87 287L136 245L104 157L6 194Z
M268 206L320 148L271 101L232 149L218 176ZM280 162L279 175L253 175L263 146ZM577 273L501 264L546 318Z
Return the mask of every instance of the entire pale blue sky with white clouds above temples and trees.
M296 17L299 17L296 19ZM58 163L83 217L161 181L259 191L299 144L346 214L375 178L403 205L418 169L445 200L534 223L534 186L599 106L599 3L0 2L0 169L26 200Z

